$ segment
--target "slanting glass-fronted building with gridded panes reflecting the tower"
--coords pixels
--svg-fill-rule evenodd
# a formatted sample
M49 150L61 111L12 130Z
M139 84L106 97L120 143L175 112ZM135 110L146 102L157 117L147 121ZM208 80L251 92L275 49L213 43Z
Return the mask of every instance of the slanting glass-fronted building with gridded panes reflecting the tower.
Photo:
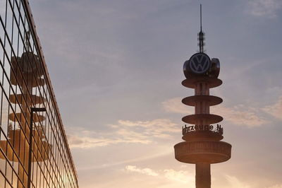
M0 188L78 187L28 1L0 16Z

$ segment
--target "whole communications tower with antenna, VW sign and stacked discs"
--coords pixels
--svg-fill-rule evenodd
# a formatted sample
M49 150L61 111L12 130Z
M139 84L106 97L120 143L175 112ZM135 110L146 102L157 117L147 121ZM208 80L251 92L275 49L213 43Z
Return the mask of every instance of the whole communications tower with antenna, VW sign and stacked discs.
M183 65L186 79L182 85L195 90L195 95L183 98L185 105L195 107L195 114L182 118L186 125L182 129L183 142L174 146L176 160L196 165L196 188L211 187L211 164L222 163L231 158L231 144L221 141L223 128L219 122L223 118L209 113L209 107L219 105L222 99L209 95L209 89L218 87L219 59L210 59L204 53L204 33L202 32L202 5L200 6L200 52L193 54Z

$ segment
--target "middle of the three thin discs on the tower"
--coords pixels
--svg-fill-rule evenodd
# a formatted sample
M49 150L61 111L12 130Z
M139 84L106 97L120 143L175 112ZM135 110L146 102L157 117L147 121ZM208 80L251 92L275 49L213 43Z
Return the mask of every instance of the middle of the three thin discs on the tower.
M205 101L209 106L219 105L222 99L213 95L194 95L183 98L182 103L188 106L195 106L196 102Z

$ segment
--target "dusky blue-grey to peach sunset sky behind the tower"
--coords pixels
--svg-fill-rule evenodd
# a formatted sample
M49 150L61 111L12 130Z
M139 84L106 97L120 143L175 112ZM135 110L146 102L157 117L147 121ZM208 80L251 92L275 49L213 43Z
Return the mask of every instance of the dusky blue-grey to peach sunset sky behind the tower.
M183 63L219 58L224 139L212 187L282 187L282 1L30 0L81 188L195 187L174 158Z

